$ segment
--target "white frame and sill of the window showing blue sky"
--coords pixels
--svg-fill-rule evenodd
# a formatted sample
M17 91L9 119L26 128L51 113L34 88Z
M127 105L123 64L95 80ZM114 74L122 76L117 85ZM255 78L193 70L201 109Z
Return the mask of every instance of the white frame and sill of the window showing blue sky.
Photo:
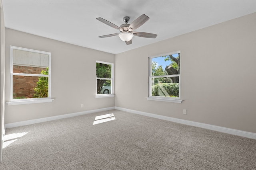
M180 74L175 74L175 75L164 75L164 76L152 76L152 59L161 57L161 56L166 56L166 55L173 55L180 53L180 51L173 51L170 53L164 53L160 55L155 55L152 57L148 57L148 63L149 63L149 72L148 72L148 100L154 100L154 101L161 101L161 102L173 102L173 103L182 103L182 100L180 98ZM180 70L181 71L181 70ZM167 97L161 97L161 96L152 96L152 78L161 78L161 77L179 77L179 97L178 98L167 98Z

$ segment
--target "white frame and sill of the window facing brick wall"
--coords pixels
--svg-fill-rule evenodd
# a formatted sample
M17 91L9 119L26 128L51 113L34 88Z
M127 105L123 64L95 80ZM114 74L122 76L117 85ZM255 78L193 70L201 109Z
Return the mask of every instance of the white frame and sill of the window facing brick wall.
M27 51L32 53L40 53L40 54L46 54L49 56L48 61L48 75L44 74L25 74L25 73L14 73L13 72L13 51L21 50L21 51ZM33 104L33 103L45 103L45 102L52 102L52 89L51 89L51 56L52 54L50 52L45 51L38 51L33 49L26 49L22 47L15 47L10 46L10 102L7 102L8 105L18 105L18 104ZM37 77L48 77L48 98L27 98L27 99L13 99L13 76L37 76Z

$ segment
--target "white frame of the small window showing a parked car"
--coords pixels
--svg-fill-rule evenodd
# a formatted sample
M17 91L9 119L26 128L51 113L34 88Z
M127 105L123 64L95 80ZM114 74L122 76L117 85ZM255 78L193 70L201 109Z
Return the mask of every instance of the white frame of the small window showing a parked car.
M100 78L96 75L96 67L95 67L95 76L96 76L96 95L95 98L107 98L107 97L114 97L114 63L108 63L104 61L96 61L96 63L102 63L102 64L110 64L111 65L111 78ZM97 94L97 79L101 80L111 80L111 93L110 94Z

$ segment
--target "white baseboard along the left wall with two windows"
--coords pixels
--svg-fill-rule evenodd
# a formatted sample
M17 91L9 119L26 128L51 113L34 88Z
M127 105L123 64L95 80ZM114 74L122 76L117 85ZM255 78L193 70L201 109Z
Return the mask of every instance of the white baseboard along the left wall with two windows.
M96 112L100 112L100 111L107 111L107 110L112 110L112 109L115 109L115 107L107 107L107 108L103 108L103 109L81 111L81 112L58 115L58 116L44 117L44 118L40 118L40 119L32 119L32 120L27 120L27 121L19 121L19 122L15 122L15 123L7 123L7 124L5 124L5 127L7 129L7 128L12 128L12 127L31 125L31 124L34 124L34 123L41 123L41 122L45 122L45 121L63 119L63 118L85 115L85 114L90 114L90 113L96 113Z

